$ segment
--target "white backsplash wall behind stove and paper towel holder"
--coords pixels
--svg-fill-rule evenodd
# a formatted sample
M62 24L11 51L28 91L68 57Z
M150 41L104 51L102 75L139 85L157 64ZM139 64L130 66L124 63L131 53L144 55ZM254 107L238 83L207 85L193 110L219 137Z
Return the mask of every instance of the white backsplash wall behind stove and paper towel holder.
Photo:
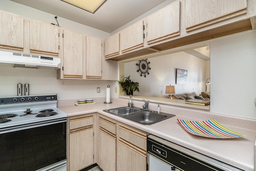
M0 96L17 96L17 84L30 85L30 95L58 94L58 100L106 97L110 85L111 96L115 93L116 81L57 80L56 71L48 69L13 68L11 64L0 64ZM96 87L101 92L96 92Z

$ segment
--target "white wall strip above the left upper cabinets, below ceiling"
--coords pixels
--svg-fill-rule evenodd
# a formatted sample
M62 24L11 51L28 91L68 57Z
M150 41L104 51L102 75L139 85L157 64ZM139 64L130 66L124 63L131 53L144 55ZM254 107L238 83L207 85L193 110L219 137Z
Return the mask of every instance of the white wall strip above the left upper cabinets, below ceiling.
M40 10L36 10L34 8L22 5L22 4L18 4L16 2L12 2L10 0L0 0L0 10L6 11L6 12L11 12L13 14L17 14L20 16L24 16L26 18L31 18L34 20L38 20L41 22L45 22L45 23L53 23L53 24L57 24L56 20L55 20L55 16L54 14L49 14ZM59 25L62 28L67 28L67 29L71 29L74 31L78 31L80 33L85 33L88 35L92 35L92 36L96 36L96 37L100 37L102 39L105 39L107 37L109 37L109 33L105 32L105 31L101 31L99 29L95 29L89 26L85 26L83 24L79 24L76 22L73 22L71 20L67 20L61 17L57 18Z

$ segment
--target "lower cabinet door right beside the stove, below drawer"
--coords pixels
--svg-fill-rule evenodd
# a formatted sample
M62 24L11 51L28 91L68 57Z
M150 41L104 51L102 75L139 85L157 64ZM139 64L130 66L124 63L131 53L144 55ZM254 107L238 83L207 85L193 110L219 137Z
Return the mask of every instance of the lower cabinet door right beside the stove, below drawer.
M69 171L78 171L93 164L93 126L70 132Z

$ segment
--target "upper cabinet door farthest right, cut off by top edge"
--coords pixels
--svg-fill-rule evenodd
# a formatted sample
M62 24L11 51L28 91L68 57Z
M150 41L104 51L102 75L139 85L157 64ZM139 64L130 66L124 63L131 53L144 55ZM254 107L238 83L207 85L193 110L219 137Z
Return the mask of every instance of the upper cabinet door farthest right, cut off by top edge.
M186 0L186 31L246 14L247 0Z

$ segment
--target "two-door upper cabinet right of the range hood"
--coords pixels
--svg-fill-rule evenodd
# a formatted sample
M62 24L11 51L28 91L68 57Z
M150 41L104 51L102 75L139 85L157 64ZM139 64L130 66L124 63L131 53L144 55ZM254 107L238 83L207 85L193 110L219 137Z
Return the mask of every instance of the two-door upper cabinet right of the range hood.
M60 28L60 57L57 79L117 80L118 63L105 61L99 37Z

